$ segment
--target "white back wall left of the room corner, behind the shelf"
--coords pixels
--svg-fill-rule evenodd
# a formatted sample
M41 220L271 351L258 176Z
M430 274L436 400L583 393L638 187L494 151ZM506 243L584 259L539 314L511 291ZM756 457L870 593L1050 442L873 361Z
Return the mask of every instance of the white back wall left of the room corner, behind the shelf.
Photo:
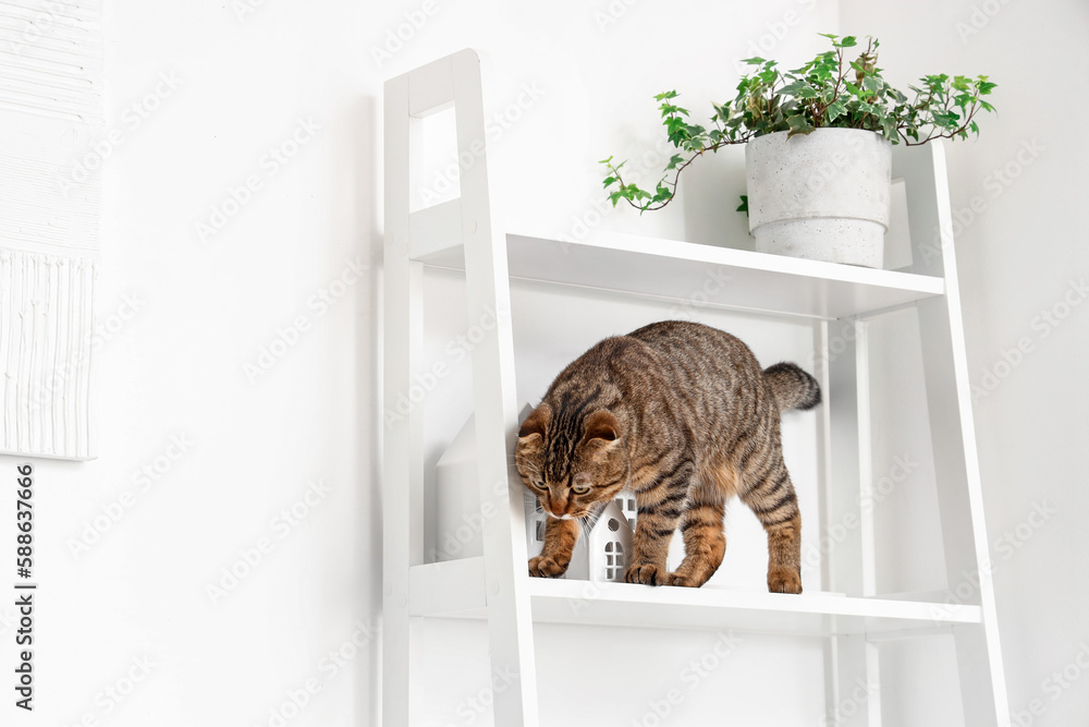
M511 180L506 189L521 189L501 197L500 208L563 232L600 198L596 160L656 136L651 94L682 82L694 101L712 88L729 90L735 74L727 59L748 54L747 38L788 11L798 27L776 45L796 58L815 47L813 32L835 23L834 2L784 0L743 15L645 3L602 32L595 14L609 12L604 2L512 4L428 3L435 10L426 24L379 65L371 49L424 5L109 3L101 136L120 132L122 141L101 172L100 457L36 463L42 590L35 724L278 724L270 710L293 717L291 725L374 724L375 641L355 642L378 627L380 598L377 263L387 77L474 46L499 70L489 87L497 111L517 113L509 107L525 84L537 84L542 95L495 144L497 173ZM702 21L693 23L697 14ZM662 31L702 48L699 60L649 52L646 39ZM292 156L273 162L273 146ZM720 163L739 169L736 155ZM247 182L256 187L248 194L240 191ZM727 203L702 216L705 239L707 220L743 225L731 211L739 177L724 184ZM225 217L213 218L213 207ZM680 234L684 217L651 223ZM639 223L634 215L610 218ZM209 233L198 222L222 229ZM342 279L351 284L337 288ZM344 294L327 306L315 300L330 290ZM518 300L531 310L537 294L519 292ZM637 317L656 315L643 310ZM519 340L528 330L519 328ZM587 326L579 346L603 332ZM270 348L281 355L268 371L247 369L269 364L259 356ZM172 447L172 438L184 447ZM17 461L0 458L0 470L12 474ZM150 484L138 474L145 468L156 473ZM311 480L328 493L297 505ZM306 516L287 526L280 513L292 506ZM103 518L119 510L115 521ZM4 542L10 523L0 519ZM97 540L74 552L88 528L88 540ZM232 584L224 568L243 577ZM213 603L208 586L217 584L229 592ZM7 645L11 606L0 615ZM445 690L436 688L431 704L441 705L444 693L456 705L482 688L482 671L462 668L484 664L481 637L473 626L421 641L440 653L465 642L464 651L448 647L428 662ZM611 702L596 699L592 673L612 663L615 638L558 633L542 647L541 671L594 701L587 714L612 714L616 703L641 716L662 675L684 686L681 669L717 639L654 638L661 662L634 681L616 673ZM580 661L580 674L558 676L573 652L595 642L602 653ZM687 714L720 711L720 689L743 701L748 689L737 675L756 668L771 690L776 659L819 665L816 646L754 639L738 650L750 657L715 671L717 687L694 694ZM133 666L145 662L146 675ZM419 677L436 683L426 669ZM815 714L819 684L819 674L799 683L792 708ZM290 700L303 701L298 690L307 686L320 693L294 715ZM566 710L546 703L552 715ZM748 704L738 710L756 714L758 702ZM429 710L421 724L445 724Z

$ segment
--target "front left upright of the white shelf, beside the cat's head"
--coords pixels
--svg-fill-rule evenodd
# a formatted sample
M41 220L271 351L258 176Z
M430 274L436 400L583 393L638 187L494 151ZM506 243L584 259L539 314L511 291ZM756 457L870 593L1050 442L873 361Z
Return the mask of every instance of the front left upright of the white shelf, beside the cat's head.
M486 142L480 61L474 53L463 52L452 57L452 64L457 147L461 154L473 154L485 148ZM495 724L537 727L523 485L513 468L518 407L506 238L492 227L487 158L481 155L461 173L468 320L486 331L473 349L473 401L486 520L488 638L492 671L505 675L502 681L509 682L493 694Z

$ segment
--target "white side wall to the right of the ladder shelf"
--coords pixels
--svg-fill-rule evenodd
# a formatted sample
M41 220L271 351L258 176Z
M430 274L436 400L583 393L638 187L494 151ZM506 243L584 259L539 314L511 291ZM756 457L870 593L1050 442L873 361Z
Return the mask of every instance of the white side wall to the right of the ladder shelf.
M1089 307L1067 308L1064 298L1089 269L1075 211L1089 194L1089 150L1068 131L1089 105L1089 8L1077 0L840 7L844 34L881 39L879 65L896 85L939 72L983 73L999 84L998 114L981 119L978 141L954 144L947 156L1010 707L1018 725L1084 724L1089 677L1076 659L1089 643L1081 535ZM1059 325L1043 317L1052 310ZM1027 354L1016 352L1019 342ZM900 541L908 535L902 530ZM926 531L917 537L930 547Z

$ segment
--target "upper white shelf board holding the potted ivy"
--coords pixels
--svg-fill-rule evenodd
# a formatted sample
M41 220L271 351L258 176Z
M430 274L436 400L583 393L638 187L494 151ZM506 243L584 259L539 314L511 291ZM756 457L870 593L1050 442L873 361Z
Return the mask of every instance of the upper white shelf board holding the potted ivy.
M932 276L621 233L579 242L507 234L506 243L512 278L776 315L865 315L945 289ZM464 269L461 245L430 250L417 259Z

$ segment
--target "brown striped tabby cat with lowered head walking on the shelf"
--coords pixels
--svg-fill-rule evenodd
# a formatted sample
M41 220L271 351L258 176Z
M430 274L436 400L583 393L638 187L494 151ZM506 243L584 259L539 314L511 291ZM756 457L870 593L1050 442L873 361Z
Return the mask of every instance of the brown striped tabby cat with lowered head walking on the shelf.
M768 590L800 593L802 514L780 412L818 403L817 380L797 365L761 371L747 346L709 326L668 320L601 341L556 376L518 432L518 472L549 516L530 574L562 575L579 521L626 485L638 502L627 582L706 583L737 495L768 533ZM669 572L678 525L685 557Z

